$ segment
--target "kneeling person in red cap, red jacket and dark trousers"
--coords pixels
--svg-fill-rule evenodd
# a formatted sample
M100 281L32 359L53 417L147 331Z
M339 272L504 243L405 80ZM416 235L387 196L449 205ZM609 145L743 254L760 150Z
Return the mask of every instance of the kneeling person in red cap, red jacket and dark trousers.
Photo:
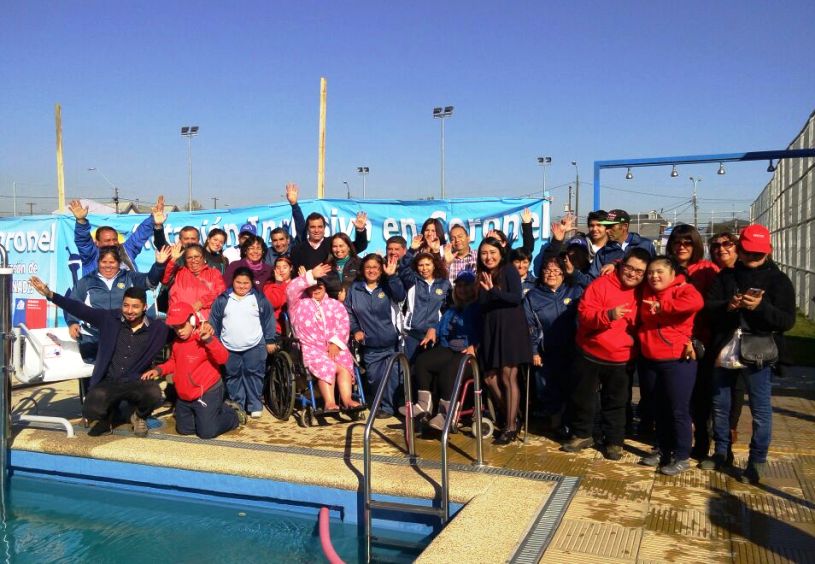
M177 303L167 312L167 325L176 334L170 358L142 375L142 380L173 375L178 392L175 429L180 435L213 439L246 423L237 404L224 401L220 366L229 352L209 323L200 323L192 306Z

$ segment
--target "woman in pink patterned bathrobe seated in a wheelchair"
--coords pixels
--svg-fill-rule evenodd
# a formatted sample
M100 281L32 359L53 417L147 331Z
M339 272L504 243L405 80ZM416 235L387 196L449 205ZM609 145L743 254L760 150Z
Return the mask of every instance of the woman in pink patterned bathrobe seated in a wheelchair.
M326 412L339 410L335 386L339 388L343 409L359 406L351 397L354 360L347 345L348 313L341 302L328 297L322 280L330 271L329 265L319 264L286 288L289 317L300 341L303 364L317 378Z

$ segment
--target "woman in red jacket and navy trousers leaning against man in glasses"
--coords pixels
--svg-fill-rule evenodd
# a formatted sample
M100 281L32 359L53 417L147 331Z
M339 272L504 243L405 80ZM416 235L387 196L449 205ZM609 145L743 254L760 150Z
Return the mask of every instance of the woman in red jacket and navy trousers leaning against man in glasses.
M696 359L689 347L702 294L666 256L648 265L648 284L640 305L641 385L653 390L659 449L641 460L675 476L690 465L690 400L696 382ZM649 385L650 384L650 385Z

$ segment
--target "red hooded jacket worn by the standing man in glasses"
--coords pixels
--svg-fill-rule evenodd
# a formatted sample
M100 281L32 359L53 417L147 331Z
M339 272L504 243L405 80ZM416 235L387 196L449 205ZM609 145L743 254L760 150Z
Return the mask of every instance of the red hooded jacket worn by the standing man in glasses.
M639 286L625 288L615 272L589 284L577 307L577 346L586 355L605 362L625 363L634 358ZM615 320L608 313L619 305L630 311Z

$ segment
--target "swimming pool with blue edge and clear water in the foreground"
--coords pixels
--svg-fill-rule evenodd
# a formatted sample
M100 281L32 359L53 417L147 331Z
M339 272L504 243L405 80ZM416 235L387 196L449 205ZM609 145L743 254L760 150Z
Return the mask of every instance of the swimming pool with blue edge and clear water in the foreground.
M6 561L320 562L322 506L339 555L364 560L357 492L20 451L12 468ZM410 562L434 531L394 519L375 533L398 545L378 559Z

